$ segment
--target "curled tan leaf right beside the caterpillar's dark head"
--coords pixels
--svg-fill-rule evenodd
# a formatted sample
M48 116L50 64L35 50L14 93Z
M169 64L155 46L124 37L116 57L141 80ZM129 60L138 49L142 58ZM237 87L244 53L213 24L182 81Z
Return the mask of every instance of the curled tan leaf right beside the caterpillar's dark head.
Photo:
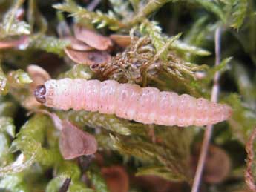
M41 105L39 104L39 102L36 102L35 96L33 96L33 91L38 85L42 85L42 83L45 83L47 80L49 80L50 75L42 67L39 67L38 65L35 65L35 64L30 64L27 67L27 73L29 74L33 82L30 83L30 86L29 86L30 94L24 100L24 107L27 107L28 109L32 109L35 107L39 107Z

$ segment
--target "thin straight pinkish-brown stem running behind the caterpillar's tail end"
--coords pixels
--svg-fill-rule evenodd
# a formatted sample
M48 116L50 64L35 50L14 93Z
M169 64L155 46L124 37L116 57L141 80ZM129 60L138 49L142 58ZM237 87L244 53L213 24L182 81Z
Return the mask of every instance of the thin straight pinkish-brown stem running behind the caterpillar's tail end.
M215 65L220 64L220 35L221 35L221 30L220 30L220 27L218 27L215 30ZM219 93L219 84L218 84L219 79L220 79L220 73L216 72L214 75L214 85L211 90L212 102L217 102L218 93ZM199 161L197 163L197 171L194 176L194 182L191 190L192 192L198 192L198 189L200 187L200 180L203 173L203 166L206 161L206 155L209 147L209 142L211 139L212 129L213 129L213 125L207 125L206 131L203 136L203 145L201 148Z

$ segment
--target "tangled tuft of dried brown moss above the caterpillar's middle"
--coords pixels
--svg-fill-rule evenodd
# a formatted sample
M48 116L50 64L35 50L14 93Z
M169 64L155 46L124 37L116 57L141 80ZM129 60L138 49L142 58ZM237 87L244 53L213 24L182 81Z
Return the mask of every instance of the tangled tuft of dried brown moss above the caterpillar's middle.
M141 38L138 41L132 41L131 45L122 53L118 53L111 62L108 62L99 71L105 79L114 79L118 82L142 82L141 68L150 61L155 54L154 45L148 38ZM159 66L155 62L151 72Z

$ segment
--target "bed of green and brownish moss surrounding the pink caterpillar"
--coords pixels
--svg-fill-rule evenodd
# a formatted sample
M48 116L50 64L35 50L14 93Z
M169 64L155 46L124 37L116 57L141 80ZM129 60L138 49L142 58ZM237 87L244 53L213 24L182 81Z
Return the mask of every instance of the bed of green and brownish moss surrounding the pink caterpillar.
M232 107L233 115L226 123L214 125L212 141L221 144L226 153L244 153L231 150L245 147L256 124L255 1L88 2L97 3L0 0L1 189L59 191L65 179L71 178L68 191L109 191L108 179L100 173L106 165L125 166L133 178L133 191L144 190L134 182L134 175L162 177L177 182L180 188L187 188L194 179L197 157L191 149L193 143L202 142L203 132L196 127L143 125L97 112L55 110L61 119L85 129L98 142L97 155L90 156L90 161L89 157L63 159L59 153L60 131L52 120L45 115L26 116L39 108L50 111L33 105L31 87L36 79L30 79L26 72L29 64L38 64L54 79L114 79L208 99L214 74L220 72L219 100ZM113 41L114 47L107 50L111 61L97 69L73 65L64 51L70 42L63 35L73 36L76 23L94 27L104 36L130 36L131 44L119 47ZM221 28L222 62L214 66L217 28ZM12 48L5 47L12 43ZM35 107L28 110L27 106ZM82 165L82 159L88 162ZM240 159L232 157L234 168L227 175L232 183L203 185L205 191L242 191L246 163ZM234 174L236 170L240 171Z

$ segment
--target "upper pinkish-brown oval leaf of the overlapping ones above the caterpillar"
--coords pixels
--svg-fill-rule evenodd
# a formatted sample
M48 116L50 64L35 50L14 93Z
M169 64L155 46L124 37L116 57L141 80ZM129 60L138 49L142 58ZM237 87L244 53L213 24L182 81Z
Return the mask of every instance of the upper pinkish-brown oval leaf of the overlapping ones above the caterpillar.
M110 38L102 36L93 30L88 30L79 25L74 27L74 34L76 39L85 42L97 50L109 50L113 46Z

